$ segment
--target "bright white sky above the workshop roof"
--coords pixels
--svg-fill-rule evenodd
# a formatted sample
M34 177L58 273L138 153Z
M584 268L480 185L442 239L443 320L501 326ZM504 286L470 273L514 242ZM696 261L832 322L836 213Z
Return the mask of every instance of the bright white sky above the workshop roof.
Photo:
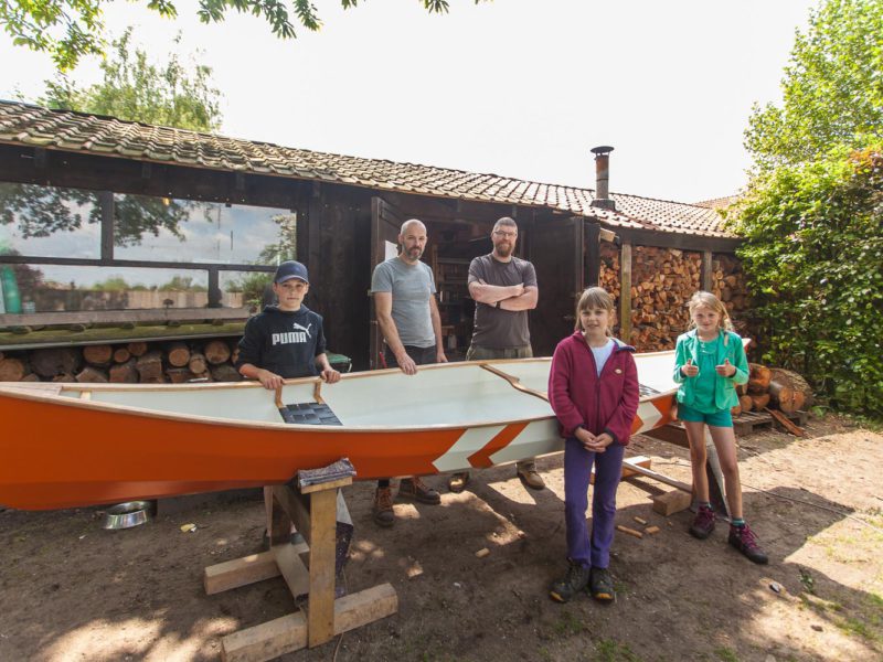
M316 0L322 30L291 41L175 4L169 21L114 2L106 22L111 35L134 25L158 61L201 51L222 135L589 189L589 149L609 145L610 191L698 202L745 184L752 105L779 102L818 0L450 0L443 15L418 0ZM98 72L92 58L72 77ZM0 98L35 98L52 74L0 34Z

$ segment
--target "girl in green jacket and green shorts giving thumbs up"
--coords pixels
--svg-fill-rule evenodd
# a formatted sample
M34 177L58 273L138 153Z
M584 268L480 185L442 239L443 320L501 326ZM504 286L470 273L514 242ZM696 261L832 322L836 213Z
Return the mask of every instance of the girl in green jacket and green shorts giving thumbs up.
M678 418L687 428L690 461L699 512L690 533L704 540L714 531L714 511L709 501L705 473L705 426L709 426L721 460L730 506L730 544L754 563L767 563L754 532L742 516L742 485L736 461L736 437L730 408L738 404L736 384L748 381L748 361L742 339L732 331L726 308L710 292L690 299L692 329L678 338L674 351L674 381L678 389Z

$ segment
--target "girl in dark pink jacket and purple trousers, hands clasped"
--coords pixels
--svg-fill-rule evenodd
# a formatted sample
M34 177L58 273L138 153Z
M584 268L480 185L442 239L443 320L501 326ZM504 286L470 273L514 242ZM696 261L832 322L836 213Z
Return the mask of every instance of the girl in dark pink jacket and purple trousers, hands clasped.
M638 370L631 348L610 337L614 301L591 287L576 305L576 330L552 357L549 401L564 444L564 515L567 574L550 587L566 602L587 586L596 600L616 599L608 570L614 540L616 489L623 456L638 410ZM588 483L595 465L592 536L586 525Z

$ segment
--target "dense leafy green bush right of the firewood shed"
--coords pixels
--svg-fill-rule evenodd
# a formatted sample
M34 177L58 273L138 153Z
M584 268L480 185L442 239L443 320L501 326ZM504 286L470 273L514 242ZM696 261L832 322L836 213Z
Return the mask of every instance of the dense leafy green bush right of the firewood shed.
M736 212L764 361L883 417L883 143L758 175Z

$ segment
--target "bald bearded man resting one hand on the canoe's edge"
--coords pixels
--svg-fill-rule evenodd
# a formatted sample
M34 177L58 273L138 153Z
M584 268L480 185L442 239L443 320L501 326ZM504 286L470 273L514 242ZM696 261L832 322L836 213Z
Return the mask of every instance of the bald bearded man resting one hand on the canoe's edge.
M374 311L383 334L383 357L387 367L398 367L406 375L418 365L446 363L443 349L442 318L435 301L433 270L421 261L426 248L426 226L412 218L398 233L402 252L379 264L371 278ZM419 478L403 479L398 498L436 505L438 492ZM374 522L392 526L395 522L390 480L377 481L374 493Z

